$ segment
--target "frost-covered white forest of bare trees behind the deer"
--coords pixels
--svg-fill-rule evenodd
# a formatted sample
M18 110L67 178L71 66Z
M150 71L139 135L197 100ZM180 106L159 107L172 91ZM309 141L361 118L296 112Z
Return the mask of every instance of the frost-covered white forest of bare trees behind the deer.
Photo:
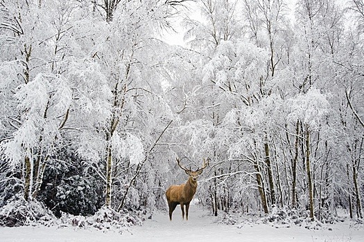
M0 0L0 225L138 224L176 158L214 216L363 220L364 1L292 2Z

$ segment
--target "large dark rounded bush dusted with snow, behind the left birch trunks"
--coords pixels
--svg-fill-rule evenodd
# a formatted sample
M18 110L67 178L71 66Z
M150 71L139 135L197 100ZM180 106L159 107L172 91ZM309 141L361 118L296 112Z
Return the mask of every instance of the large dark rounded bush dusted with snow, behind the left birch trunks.
M44 174L38 200L58 218L62 213L89 216L103 205L103 184L92 169L83 167L72 156L62 162L53 160Z

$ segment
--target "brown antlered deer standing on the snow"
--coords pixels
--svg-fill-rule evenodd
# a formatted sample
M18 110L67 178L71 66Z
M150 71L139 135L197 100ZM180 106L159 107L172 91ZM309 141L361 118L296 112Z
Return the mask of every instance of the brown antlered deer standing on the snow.
M203 165L201 168L196 169L196 171L192 171L187 169L186 167L182 166L180 163L180 159L176 158L177 165L189 175L189 179L187 183L181 185L171 185L168 187L166 191L166 198L169 207L169 220L172 221L172 213L175 210L177 205L181 206L182 210L182 220L184 220L184 205L186 205L186 220L189 220L189 203L191 202L193 195L196 193L197 188L197 178L202 174L203 169L209 165L209 159L207 162L205 158L203 159Z

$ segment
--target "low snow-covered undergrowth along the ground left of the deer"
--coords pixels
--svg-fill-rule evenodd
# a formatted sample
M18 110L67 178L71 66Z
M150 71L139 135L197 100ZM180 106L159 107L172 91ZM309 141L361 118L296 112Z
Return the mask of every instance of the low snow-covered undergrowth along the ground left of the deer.
M63 213L57 218L51 210L38 201L17 199L0 207L0 226L18 227L44 225L46 227L78 227L114 232L123 232L133 225L141 225L145 210L123 210L116 212L110 207L101 207L92 216L75 216Z

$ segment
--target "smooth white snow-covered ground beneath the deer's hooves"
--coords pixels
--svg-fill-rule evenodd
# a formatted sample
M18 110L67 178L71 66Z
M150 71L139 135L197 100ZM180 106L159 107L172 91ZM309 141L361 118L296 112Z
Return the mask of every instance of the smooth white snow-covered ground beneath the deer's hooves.
M307 230L296 226L275 228L253 223L238 228L236 225L216 223L216 218L207 210L191 205L189 221L182 221L178 206L173 213L173 221L169 221L166 212L157 212L143 226L131 227L123 234L71 227L0 227L0 241L364 241L363 228L350 224L352 223L338 223L332 225L331 230Z

